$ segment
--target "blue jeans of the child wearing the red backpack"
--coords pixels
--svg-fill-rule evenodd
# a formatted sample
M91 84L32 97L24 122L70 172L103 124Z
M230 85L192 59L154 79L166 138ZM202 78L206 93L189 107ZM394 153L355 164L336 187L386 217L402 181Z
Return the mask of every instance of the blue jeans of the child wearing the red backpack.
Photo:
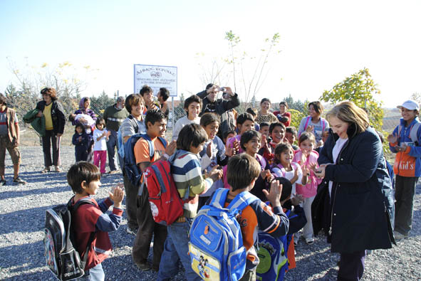
M172 223L171 226L167 226L168 235L167 240L165 240L164 253L161 256L160 271L158 272L157 280L170 280L177 275L179 261L181 261L184 270L186 270L186 280L202 280L192 270L188 255L190 222Z

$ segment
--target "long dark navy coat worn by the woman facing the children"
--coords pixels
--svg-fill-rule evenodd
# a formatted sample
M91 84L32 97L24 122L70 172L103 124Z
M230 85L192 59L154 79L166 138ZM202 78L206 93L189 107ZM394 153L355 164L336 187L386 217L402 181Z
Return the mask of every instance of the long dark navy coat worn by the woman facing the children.
M373 128L360 134L355 134L353 128L348 128L348 137L353 137L344 144L336 164L326 166L325 180L333 181L330 218L326 218L331 223L332 251L392 248L393 189L383 147ZM319 164L333 163L337 139L338 135L331 131Z

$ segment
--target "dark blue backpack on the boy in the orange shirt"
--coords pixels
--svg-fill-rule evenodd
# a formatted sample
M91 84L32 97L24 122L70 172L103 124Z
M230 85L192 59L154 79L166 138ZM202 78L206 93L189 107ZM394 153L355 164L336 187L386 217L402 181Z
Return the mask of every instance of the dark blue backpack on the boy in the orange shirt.
M130 183L133 186L140 186L140 180L142 179L142 171L140 171L139 166L137 166L136 163L136 157L135 157L135 144L138 139L143 138L147 141L148 147L149 147L149 157L152 160L155 155L155 148L153 146L152 139L147 134L133 134L128 141L124 145L124 171L125 176L128 177L130 180ZM167 147L167 140L165 140L163 137L158 137L164 147Z

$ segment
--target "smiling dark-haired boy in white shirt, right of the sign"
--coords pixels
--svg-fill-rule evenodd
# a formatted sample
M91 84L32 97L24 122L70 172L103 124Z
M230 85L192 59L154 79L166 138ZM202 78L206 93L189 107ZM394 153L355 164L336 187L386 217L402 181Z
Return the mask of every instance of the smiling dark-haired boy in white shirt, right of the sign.
M181 129L190 123L199 124L200 117L199 113L202 110L202 99L197 95L191 95L184 101L184 110L187 112L187 116L184 116L175 122L174 129L172 130L172 140L177 140L178 134Z

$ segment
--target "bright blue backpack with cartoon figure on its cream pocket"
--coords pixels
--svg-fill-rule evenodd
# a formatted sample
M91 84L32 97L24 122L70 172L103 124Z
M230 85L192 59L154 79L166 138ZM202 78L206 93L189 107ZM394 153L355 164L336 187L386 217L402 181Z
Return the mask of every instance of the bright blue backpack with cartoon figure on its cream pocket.
M200 209L190 228L190 263L204 280L237 281L246 270L247 253L236 216L259 198L244 191L224 208L228 192L217 189L210 205Z

